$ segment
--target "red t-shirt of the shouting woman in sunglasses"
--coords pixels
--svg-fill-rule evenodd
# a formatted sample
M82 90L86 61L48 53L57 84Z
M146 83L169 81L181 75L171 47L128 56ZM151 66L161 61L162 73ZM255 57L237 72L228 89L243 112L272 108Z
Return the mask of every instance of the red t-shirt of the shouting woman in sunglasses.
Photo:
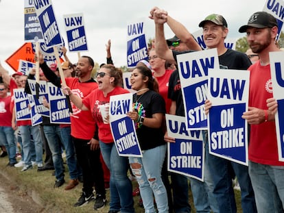
M113 142L113 136L110 131L110 125L104 123L102 115L101 113L99 113L98 106L103 105L105 103L109 103L110 96L112 95L119 95L125 93L129 93L129 91L117 86L113 89L113 91L109 92L106 97L104 97L104 93L102 92L102 90L97 89L91 92L90 95L83 99L84 105L91 110L93 118L95 118L95 122L99 127L99 140L102 140L102 142Z

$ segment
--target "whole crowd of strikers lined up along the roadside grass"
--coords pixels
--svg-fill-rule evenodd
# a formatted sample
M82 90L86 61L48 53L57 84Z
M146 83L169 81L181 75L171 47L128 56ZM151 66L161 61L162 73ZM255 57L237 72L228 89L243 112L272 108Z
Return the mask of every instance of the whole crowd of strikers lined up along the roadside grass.
M107 62L101 64L95 79L91 77L94 61L89 56L80 57L73 66L63 48L64 81L58 75L56 64L48 65L41 53L35 57L40 64L40 79L62 87L71 100L70 125L52 124L45 116L43 123L36 126L30 120L16 121L14 89L25 88L30 93L26 82L34 79L36 73L33 70L29 76L21 72L10 76L0 65L0 157L8 155L8 166L22 167L23 172L33 166L39 172L54 169L54 187L59 188L65 182L64 150L70 176L65 190L71 190L79 181L83 183L82 195L74 207L95 200L94 210L104 208L109 184L108 213L135 212L132 197L135 195L141 196L145 212L191 212L189 189L196 212L235 213L233 180L237 179L243 212L284 212L284 162L278 158L274 122L277 102L271 87L268 88L269 52L281 51L276 42L276 18L267 12L255 12L247 25L239 28L240 33L246 33L250 46L246 53L225 47L228 23L222 15L210 14L199 24L207 49L217 49L220 68L250 71L249 108L242 116L250 125L249 165L209 153L208 132L203 130L204 181L167 171L166 143L175 142L175 138L169 137L165 129L165 114L185 116L177 55L202 51L202 48L185 26L165 10L153 8L150 18L155 25L155 39L148 61L137 63L131 71L130 84L136 92L132 96L132 111L127 113L135 123L142 158L118 154L108 118L100 113L111 96L129 92L123 88L121 69L113 65L110 40L106 45ZM175 34L173 38L165 38L165 24ZM46 99L43 105L49 108ZM211 101L206 100L206 114L210 108ZM20 136L16 140L18 131ZM16 142L21 145L21 162L16 161ZM135 192L129 173L139 186Z

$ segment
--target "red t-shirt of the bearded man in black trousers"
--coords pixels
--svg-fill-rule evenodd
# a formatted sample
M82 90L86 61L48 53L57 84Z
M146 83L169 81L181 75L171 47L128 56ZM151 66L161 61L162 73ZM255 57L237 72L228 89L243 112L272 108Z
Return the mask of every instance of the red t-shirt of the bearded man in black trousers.
M81 83L77 77L67 77L65 81L67 86L71 88L73 94L83 100L97 88L96 82ZM73 105L73 103L71 103L71 105L73 110L73 114L71 115L71 136L83 140L90 140L95 133L95 121L91 111L82 111Z

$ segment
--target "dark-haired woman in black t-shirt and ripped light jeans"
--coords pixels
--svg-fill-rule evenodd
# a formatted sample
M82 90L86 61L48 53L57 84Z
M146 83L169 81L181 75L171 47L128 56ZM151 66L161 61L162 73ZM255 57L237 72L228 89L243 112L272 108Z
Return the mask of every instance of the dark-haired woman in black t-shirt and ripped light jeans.
M135 68L130 82L137 93L133 95L133 111L128 116L136 122L143 153L143 158L129 157L130 167L137 178L145 212L156 212L153 194L158 212L168 212L167 191L161 178L167 149L163 132L165 101L158 94L158 82L149 68Z

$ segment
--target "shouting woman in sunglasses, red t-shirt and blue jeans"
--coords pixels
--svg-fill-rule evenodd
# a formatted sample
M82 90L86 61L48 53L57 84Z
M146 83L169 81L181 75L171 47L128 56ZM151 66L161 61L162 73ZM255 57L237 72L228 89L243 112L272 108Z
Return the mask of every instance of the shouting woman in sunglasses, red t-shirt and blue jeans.
M98 136L94 136L97 143L93 148L100 147L104 162L110 170L110 210L108 213L134 212L132 199L132 184L128 179L128 158L120 157L113 142L110 125L104 121L100 108L110 102L110 96L128 93L128 90L119 86L121 84L121 71L111 64L99 69L96 75L98 88L87 97L73 95L71 90L64 88L71 101L81 110L91 110L98 127Z

